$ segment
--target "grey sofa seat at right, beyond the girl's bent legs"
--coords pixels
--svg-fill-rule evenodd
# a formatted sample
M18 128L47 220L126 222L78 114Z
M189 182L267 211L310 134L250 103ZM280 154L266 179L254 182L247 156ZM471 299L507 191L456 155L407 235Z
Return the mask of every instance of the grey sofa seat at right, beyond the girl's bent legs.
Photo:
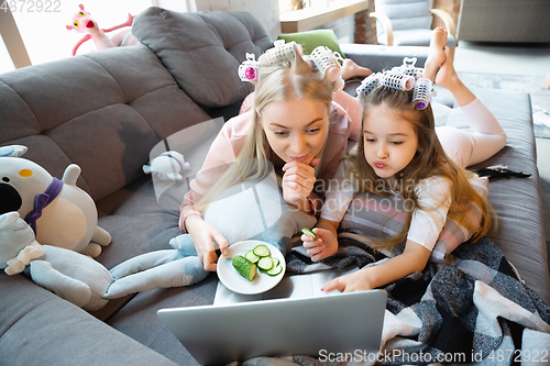
M529 95L516 92L513 96L510 91L491 89L473 89L473 92L503 125L507 140L506 146L495 156L470 169L503 164L531 175L490 184L488 201L498 218L498 228L490 232L490 236L518 269L525 284L548 303L549 274ZM468 129L457 109L449 113L447 125Z

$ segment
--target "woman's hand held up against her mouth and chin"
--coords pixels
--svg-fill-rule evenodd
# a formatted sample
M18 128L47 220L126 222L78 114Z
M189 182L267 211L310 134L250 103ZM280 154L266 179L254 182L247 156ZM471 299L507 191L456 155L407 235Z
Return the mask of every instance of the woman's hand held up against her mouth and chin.
M285 171L283 176L283 198L287 203L297 203L311 195L317 180L314 167L320 162L321 159L314 158L309 164L295 160L285 164L283 167L283 171Z

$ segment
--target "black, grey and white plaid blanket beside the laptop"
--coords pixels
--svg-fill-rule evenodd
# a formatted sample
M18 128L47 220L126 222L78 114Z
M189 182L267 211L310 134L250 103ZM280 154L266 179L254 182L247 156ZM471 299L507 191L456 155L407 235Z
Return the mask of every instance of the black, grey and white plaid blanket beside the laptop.
M354 236L350 239L349 236ZM287 255L288 273L377 265L359 235L340 239L339 252L312 263L302 246ZM519 278L488 237L464 243L452 263L429 263L385 287L388 292L378 355L348 355L332 362L296 355L290 359L258 357L245 365L549 365L550 307Z

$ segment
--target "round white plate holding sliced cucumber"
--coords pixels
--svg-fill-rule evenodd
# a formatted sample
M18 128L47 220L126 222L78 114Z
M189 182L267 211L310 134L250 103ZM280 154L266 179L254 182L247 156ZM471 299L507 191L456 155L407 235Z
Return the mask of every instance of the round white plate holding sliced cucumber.
M239 274L235 268L233 268L232 260L234 256L244 256L246 252L255 248L257 245L267 246L271 252L271 257L277 258L279 260L280 265L283 266L283 271L277 276L272 277L266 273L262 273L260 271L260 269L257 269L256 278L250 281L241 276L241 274ZM218 259L217 271L220 281L231 291L237 293L254 295L262 293L274 288L275 285L277 285L283 279L283 276L285 276L285 256L275 246L262 241L244 241L231 245L228 248L227 256L224 256L223 254L220 255L220 258Z

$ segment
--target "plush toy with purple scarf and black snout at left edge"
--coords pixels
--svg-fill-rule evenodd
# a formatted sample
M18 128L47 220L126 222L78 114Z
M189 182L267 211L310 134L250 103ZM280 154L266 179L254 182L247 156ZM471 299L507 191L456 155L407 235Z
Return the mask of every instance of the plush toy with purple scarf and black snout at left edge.
M92 257L111 235L98 226L96 203L76 186L80 167L72 164L63 179L20 157L25 146L0 147L0 214L18 211L36 241Z

